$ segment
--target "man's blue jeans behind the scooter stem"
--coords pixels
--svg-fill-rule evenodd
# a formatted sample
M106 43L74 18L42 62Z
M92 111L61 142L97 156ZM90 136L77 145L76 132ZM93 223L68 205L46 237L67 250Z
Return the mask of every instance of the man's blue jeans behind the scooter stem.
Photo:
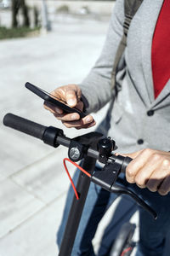
M99 167L96 166L96 171ZM74 182L77 182L78 172L75 173ZM144 201L150 204L158 213L158 218L154 220L148 212L139 207L139 245L136 256L162 256L165 246L167 231L170 229L170 195L161 196L152 193L148 189L139 189L135 184L126 182L122 175L122 183L136 194L140 195ZM65 203L65 211L61 225L59 227L57 242L60 246L65 231L65 224L71 208L73 190L69 189ZM72 249L71 256L94 256L92 240L97 230L100 219L104 216L111 203L116 199L116 195L101 189L98 185L91 183L87 201L82 212L82 218L77 230L77 236ZM99 248L98 256L106 256L116 237L116 234L124 222L127 222L137 210L136 204L129 197L122 197L119 206L116 208L114 217L106 228L104 237Z

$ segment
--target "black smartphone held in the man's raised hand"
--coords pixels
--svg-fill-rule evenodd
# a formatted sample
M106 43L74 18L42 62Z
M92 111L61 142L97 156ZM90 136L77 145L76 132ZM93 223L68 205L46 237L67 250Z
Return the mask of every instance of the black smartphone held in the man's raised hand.
M85 113L83 113L81 110L77 108L71 108L68 106L65 102L58 99L56 96L51 95L45 90L42 90L41 88L37 87L36 85L33 85L29 82L25 84L26 88L28 90L31 90L33 93L35 93L37 96L40 96L44 101L49 102L53 104L54 106L63 109L66 113L78 113L80 115L80 118L84 118L86 116Z

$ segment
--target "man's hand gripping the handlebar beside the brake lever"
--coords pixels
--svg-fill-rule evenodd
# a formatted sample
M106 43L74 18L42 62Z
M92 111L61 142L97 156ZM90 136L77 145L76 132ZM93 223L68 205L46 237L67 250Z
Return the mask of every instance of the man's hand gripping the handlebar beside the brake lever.
M170 153L145 148L132 154L122 154L133 158L126 169L128 183L136 183L139 188L148 188L160 195L170 191Z

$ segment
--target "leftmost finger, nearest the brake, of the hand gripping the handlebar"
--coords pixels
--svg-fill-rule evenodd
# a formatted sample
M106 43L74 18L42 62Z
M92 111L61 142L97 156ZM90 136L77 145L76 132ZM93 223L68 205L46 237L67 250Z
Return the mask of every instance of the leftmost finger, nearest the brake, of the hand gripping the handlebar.
M135 177L137 173L147 163L150 155L153 154L153 150L150 148L139 151L139 154L134 158L127 166L126 178L128 183L135 183ZM129 154L130 155L130 154Z

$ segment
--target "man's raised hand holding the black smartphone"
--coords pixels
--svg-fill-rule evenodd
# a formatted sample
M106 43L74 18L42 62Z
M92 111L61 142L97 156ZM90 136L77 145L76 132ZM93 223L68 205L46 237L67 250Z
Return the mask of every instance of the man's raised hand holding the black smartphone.
M83 109L83 102L81 101L82 91L77 84L60 86L50 94L57 96L71 108L76 107L80 110ZM48 102L44 102L44 108L48 109L51 113L54 113L54 116L61 120L67 128L75 127L76 129L82 129L95 125L94 118L89 114L83 119L80 119L78 113L65 113L62 109L55 107Z

